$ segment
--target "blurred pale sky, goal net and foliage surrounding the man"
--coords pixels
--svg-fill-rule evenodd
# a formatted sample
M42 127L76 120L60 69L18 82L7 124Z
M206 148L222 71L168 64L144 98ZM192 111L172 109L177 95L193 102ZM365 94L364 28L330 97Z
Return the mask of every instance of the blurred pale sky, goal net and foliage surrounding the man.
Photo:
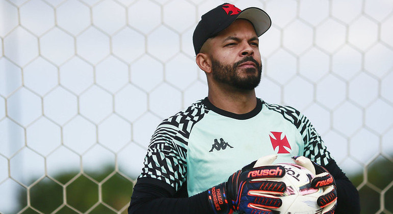
M393 213L393 0L228 1L271 16L266 102L291 105ZM126 213L155 127L207 94L203 0L0 0L0 212Z

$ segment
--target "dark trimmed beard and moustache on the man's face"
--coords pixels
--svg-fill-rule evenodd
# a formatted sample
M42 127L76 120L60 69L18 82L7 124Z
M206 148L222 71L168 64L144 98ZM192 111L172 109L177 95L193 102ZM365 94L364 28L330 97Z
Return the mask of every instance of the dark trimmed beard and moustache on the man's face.
M247 75L244 77L240 76L240 72L237 72L239 69L238 66L249 61L255 63L256 68L245 68L245 73ZM232 66L223 65L221 62L212 59L212 70L213 78L217 82L227 84L237 89L250 91L255 89L260 83L262 65L252 57L245 57Z

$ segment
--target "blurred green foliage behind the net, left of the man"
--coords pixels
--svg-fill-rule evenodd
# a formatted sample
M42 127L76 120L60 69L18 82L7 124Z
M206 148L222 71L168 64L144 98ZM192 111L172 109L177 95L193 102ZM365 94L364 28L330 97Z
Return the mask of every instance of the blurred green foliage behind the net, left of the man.
M31 207L22 213L39 213L34 209L43 213L118 213L129 204L133 185L114 167L89 175L66 172L55 178L45 177L30 189ZM19 210L27 205L27 194L25 190L19 191Z

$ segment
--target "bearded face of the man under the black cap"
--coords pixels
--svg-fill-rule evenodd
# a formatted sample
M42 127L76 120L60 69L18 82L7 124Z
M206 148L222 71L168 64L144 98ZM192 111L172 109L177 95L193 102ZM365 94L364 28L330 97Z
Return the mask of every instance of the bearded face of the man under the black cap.
M241 90L258 86L262 72L258 37L249 21L235 20L209 42L216 82Z

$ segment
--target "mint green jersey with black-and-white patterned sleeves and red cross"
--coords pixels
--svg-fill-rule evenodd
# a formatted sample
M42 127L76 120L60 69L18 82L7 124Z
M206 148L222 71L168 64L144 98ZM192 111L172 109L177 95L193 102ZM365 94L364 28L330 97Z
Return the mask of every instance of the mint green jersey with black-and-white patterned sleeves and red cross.
M205 98L156 128L139 177L162 180L175 191L187 185L193 196L274 153L275 163L304 155L325 166L332 159L310 121L290 106L257 99L253 111L238 115Z

